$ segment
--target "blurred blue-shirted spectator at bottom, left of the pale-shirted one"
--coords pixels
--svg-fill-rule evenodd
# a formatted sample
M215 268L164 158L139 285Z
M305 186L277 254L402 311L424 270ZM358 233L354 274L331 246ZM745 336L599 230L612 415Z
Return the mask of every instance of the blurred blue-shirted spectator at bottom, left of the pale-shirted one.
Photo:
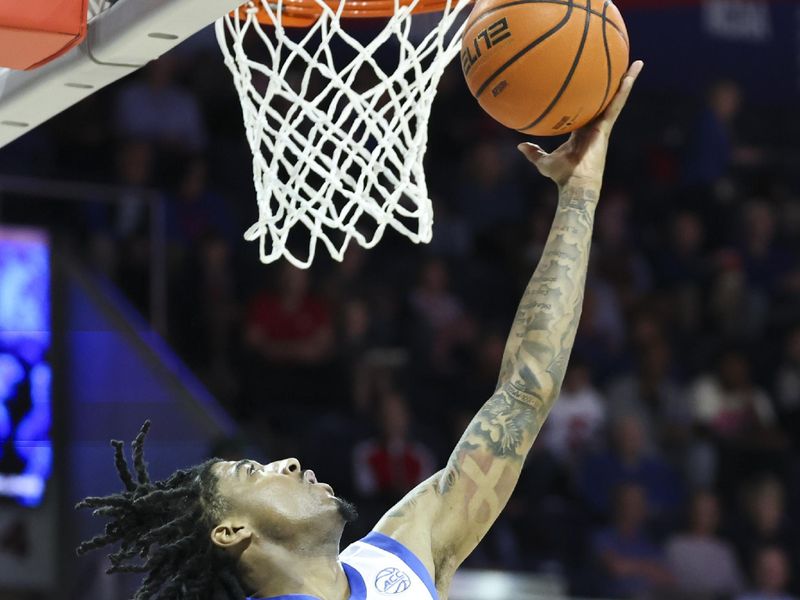
M613 598L641 598L672 583L664 553L650 538L645 491L634 484L616 490L611 527L592 538L592 552L601 568L597 593Z

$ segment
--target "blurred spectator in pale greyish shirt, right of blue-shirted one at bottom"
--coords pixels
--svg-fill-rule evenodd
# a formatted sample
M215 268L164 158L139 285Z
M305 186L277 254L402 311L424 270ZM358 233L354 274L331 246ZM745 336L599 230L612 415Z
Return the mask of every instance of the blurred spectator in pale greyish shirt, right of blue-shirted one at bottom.
M720 507L710 492L692 499L689 529L667 544L667 560L684 600L713 600L742 590L732 546L717 535Z

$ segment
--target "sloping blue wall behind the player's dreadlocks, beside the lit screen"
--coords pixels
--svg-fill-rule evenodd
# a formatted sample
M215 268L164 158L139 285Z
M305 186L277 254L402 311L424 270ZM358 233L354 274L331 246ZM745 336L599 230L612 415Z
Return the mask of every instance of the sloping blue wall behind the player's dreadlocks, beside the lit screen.
M67 271L67 478L69 504L74 505L85 496L121 489L109 440L132 440L145 419L153 422L145 457L151 476L159 479L207 458L212 440L234 433L234 427L214 399L114 290L74 267ZM102 519L93 518L89 511L71 514L72 544L102 530ZM105 555L95 554L80 559L73 569L79 573L79 585L87 586L87 591L78 595L87 600L92 597L88 574L101 572L95 565ZM100 580L95 583L103 591L97 597L105 595L105 600L111 600L107 584L112 582ZM126 587L124 581L121 585ZM120 597L124 593L120 591Z

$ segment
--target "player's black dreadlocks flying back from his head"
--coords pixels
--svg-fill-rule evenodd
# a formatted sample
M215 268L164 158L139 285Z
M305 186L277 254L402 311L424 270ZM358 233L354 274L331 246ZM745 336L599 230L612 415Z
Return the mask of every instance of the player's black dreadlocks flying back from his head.
M120 542L119 550L109 554L106 573L147 573L133 600L243 600L234 560L209 535L226 508L211 471L219 459L150 481L143 451L149 429L145 421L132 443L135 479L124 444L111 441L125 490L76 505L110 518L105 533L82 542L78 554Z

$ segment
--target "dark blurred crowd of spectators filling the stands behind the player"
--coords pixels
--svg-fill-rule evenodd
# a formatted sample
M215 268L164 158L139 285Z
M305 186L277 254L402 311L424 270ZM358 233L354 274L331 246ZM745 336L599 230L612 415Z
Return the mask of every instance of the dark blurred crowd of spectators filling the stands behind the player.
M261 265L218 52L200 36L0 151L5 174L124 190L6 197L3 221L54 227L147 314L155 190L166 338L245 432L213 453L299 457L357 503L355 539L444 465L492 394L556 188L454 64L430 122L433 242L388 233L341 263ZM643 79L611 142L560 399L467 565L557 573L576 595L798 596L796 106L750 102L734 79L702 95Z

